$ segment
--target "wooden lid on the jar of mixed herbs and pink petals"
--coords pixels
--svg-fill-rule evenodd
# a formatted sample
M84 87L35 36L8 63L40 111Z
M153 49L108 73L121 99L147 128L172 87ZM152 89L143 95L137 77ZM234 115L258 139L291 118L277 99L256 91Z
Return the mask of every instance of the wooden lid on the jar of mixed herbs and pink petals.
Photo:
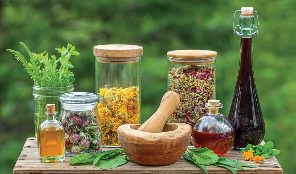
M174 50L167 53L171 63L182 64L182 65L200 65L200 64L211 64L214 63L213 59L217 56L217 52L211 50ZM198 61L198 59L207 59ZM176 61L174 61L176 60ZM178 60L178 61L177 61ZM193 62L196 61L196 62Z

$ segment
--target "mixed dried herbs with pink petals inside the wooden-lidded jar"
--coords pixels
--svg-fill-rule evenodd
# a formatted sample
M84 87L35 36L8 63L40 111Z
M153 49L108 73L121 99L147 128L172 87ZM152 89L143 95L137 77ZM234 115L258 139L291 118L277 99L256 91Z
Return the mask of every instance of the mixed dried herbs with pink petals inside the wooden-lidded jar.
M205 103L215 96L215 68L187 65L168 72L169 90L180 96L180 105L170 116L170 122L192 124L207 112Z

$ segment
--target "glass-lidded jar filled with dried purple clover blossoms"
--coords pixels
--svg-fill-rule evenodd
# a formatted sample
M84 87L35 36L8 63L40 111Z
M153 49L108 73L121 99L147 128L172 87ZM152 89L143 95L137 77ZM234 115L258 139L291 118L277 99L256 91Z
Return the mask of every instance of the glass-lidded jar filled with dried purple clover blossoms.
M67 156L95 154L102 150L100 128L94 114L98 100L98 95L89 92L69 92L59 96Z

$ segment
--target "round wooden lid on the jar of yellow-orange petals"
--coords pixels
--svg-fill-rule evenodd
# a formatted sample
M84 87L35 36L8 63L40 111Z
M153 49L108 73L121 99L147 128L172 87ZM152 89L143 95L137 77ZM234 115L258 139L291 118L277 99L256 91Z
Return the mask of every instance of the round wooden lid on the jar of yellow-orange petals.
M143 55L139 45L108 44L94 46L94 56L103 58L133 58Z

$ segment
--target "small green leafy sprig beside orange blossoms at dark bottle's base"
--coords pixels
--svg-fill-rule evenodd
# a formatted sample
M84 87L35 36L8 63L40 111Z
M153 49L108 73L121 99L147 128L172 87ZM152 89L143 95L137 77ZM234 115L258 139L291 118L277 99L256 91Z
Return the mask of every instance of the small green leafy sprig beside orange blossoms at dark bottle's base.
M254 151L254 156L262 156L264 158L269 158L269 157L276 156L281 152L277 149L272 149L273 147L274 147L274 143L271 141L268 141L263 145L248 144L246 148L242 149L239 153L250 150L250 151Z

